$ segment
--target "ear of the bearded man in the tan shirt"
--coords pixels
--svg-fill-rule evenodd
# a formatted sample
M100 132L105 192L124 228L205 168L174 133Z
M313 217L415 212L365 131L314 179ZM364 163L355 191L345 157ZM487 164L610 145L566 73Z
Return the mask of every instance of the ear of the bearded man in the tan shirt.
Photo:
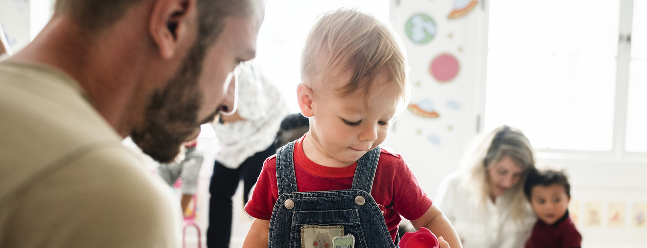
M196 0L157 0L153 3L149 31L160 56L170 59L180 47L197 38Z

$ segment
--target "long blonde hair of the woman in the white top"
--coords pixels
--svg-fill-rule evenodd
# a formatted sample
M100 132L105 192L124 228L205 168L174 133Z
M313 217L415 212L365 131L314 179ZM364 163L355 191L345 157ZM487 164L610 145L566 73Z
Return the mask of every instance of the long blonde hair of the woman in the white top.
M481 135L482 137L482 135ZM521 221L530 214L527 207L523 183L529 172L534 170L534 150L528 138L521 130L503 125L490 131L482 138L482 142L466 151L461 167L463 183L472 191L472 202L487 208L490 200L490 179L488 169L503 157L510 157L523 169L519 183L509 188L503 195L504 204L510 206L512 218Z

